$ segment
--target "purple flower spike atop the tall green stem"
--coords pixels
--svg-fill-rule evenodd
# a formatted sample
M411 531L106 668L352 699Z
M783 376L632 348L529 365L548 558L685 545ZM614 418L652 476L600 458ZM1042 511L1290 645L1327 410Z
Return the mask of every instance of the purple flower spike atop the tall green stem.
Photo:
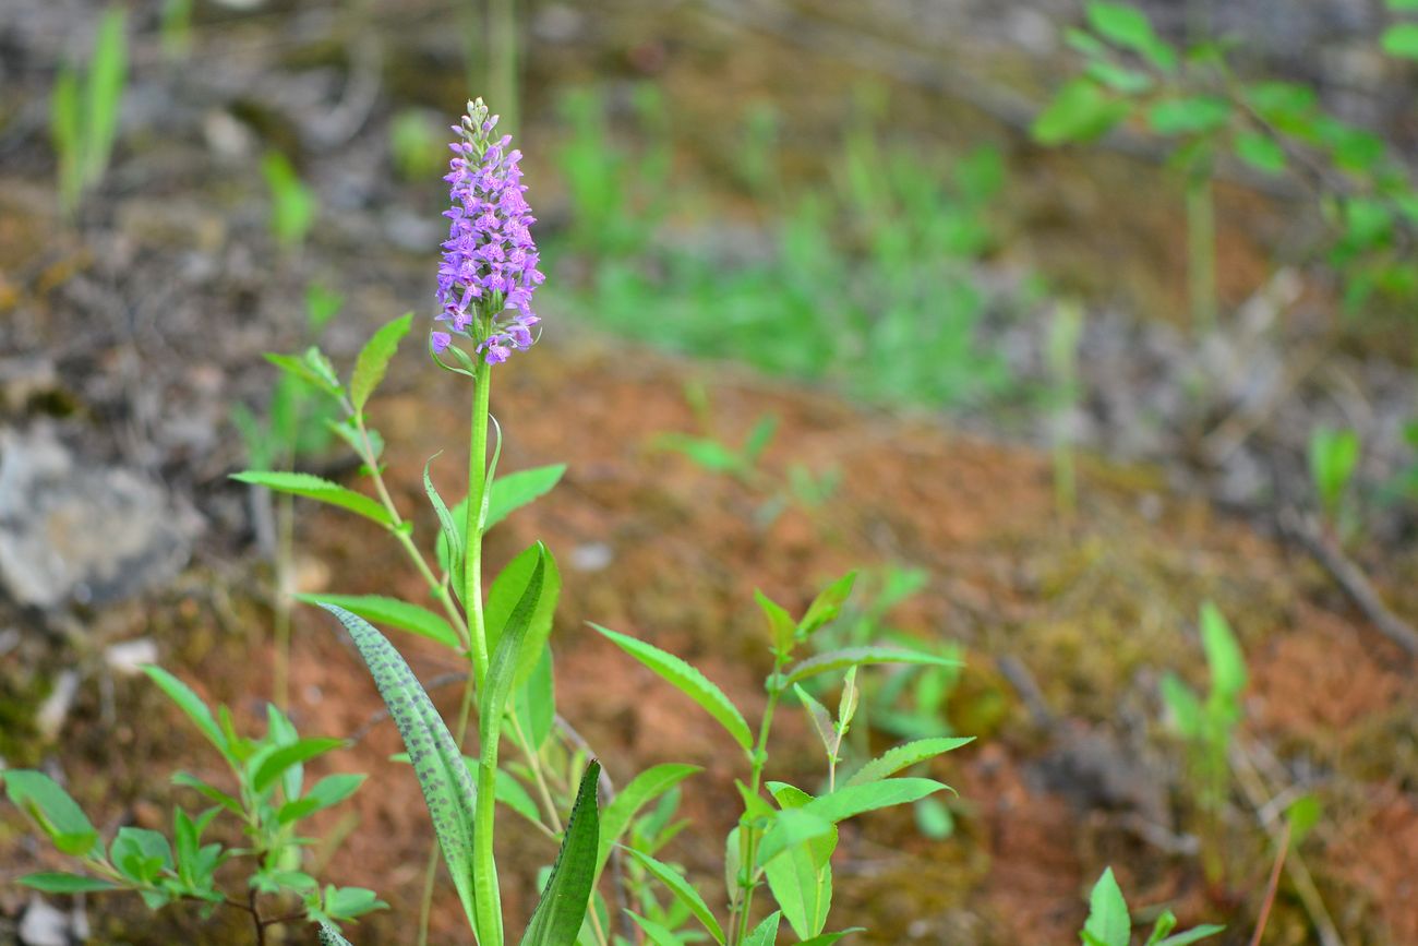
M472 339L475 350L498 365L535 342L532 326L540 319L532 311L532 294L546 278L537 269L539 254L523 193L522 152L508 150L510 135L492 138L496 115L488 115L482 99L468 102L462 125L454 128L459 140L451 145L454 159L448 196L452 207L444 216L452 221L442 244L438 267L438 322L445 330L432 332L435 353L445 352L454 336Z

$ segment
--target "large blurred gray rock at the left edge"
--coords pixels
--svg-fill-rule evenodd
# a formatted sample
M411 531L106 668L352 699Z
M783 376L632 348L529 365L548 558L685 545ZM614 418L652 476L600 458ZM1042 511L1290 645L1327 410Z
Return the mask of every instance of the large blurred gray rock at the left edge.
M17 603L129 597L182 569L191 533L146 477L85 467L47 427L0 430L0 587Z

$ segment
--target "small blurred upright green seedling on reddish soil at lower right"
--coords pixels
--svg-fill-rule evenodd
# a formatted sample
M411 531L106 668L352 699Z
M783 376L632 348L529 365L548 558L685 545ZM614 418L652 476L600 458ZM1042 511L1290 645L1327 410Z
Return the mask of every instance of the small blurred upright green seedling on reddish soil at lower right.
M1241 694L1246 686L1246 667L1231 625L1211 601L1201 606L1198 625L1211 688L1202 699L1168 671L1161 678L1161 699L1173 728L1188 749L1191 774L1198 787L1197 800L1210 834L1202 865L1208 879L1218 882L1224 874L1218 850L1221 813L1231 794L1231 742L1245 715Z

